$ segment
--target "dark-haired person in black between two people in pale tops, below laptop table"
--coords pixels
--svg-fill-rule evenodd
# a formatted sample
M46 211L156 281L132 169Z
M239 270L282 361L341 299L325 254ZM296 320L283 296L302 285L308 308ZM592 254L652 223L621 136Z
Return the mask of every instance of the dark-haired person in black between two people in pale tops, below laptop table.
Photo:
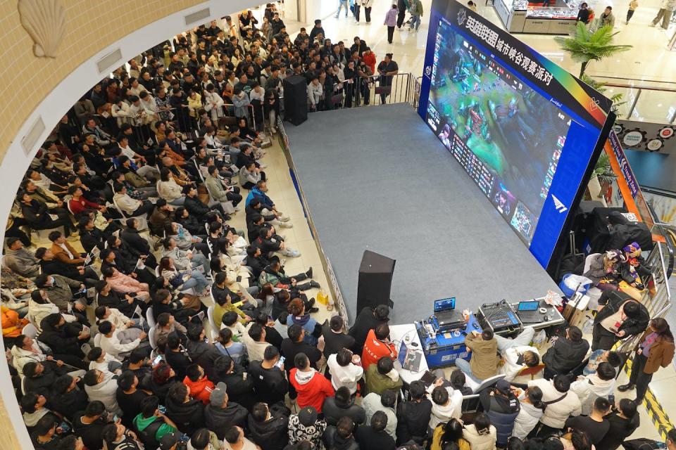
M396 442L399 445L413 440L422 444L427 437L427 428L432 413L432 402L425 397L425 384L416 380L409 387L410 401L402 401L396 407Z

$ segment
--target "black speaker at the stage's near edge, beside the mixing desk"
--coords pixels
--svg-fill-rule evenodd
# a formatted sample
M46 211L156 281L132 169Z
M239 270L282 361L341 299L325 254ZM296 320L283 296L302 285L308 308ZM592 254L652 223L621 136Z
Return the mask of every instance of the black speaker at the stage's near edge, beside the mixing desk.
M395 259L365 250L359 266L359 282L357 284L357 311L364 307L375 308L379 304L394 307L389 299L392 290L392 274Z

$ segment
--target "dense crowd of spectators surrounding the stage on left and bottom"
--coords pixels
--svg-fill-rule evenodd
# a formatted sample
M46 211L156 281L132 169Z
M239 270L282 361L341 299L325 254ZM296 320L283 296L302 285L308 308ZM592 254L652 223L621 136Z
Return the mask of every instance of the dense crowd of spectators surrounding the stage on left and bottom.
M575 326L542 356L533 328L486 329L465 339L469 361L428 385L401 378L386 306L349 330L337 315L318 323L312 268L289 275L280 259L299 252L279 233L291 224L270 198L260 133L275 132L290 75L306 77L311 110L368 101L375 56L359 38L332 44L319 20L292 41L274 4L262 23L247 11L221 25L96 84L16 195L2 328L35 448L615 450L632 435L674 344L664 319L618 290L599 300L591 355ZM242 209L246 230L228 224ZM640 333L624 386L637 401L611 404L623 363L612 346ZM515 380L541 364L544 378Z

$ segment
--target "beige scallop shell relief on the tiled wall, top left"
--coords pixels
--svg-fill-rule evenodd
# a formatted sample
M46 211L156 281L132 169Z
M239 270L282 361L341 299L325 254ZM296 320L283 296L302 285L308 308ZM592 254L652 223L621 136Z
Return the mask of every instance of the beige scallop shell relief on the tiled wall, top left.
M65 35L65 8L61 0L19 0L21 25L35 42L33 53L56 58Z

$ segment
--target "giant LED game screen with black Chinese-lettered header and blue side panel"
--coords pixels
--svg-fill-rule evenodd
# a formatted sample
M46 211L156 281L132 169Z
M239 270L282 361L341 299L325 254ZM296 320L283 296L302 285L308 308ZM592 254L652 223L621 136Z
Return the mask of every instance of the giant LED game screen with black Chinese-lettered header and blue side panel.
M456 1L434 1L418 113L544 267L610 105Z

